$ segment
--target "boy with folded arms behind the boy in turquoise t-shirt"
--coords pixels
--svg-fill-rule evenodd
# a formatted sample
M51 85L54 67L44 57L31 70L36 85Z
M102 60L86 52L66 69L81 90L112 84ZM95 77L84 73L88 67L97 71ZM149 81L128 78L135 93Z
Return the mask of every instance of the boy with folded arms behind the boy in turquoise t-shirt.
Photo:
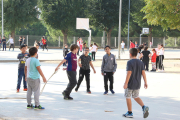
M23 84L24 84L24 91L27 91L27 83L25 81L24 67L25 67L26 60L29 58L29 53L26 53L25 45L21 45L20 50L21 50L21 53L19 53L17 56L17 59L19 59L17 93L19 93L22 78L23 78Z

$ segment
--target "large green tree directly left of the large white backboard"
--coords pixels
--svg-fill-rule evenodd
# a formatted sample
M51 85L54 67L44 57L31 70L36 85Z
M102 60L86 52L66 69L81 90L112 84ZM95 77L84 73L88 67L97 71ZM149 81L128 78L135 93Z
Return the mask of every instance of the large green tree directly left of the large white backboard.
M67 44L69 29L76 26L77 17L85 17L86 0L39 0L41 17L47 26L63 33L63 44Z

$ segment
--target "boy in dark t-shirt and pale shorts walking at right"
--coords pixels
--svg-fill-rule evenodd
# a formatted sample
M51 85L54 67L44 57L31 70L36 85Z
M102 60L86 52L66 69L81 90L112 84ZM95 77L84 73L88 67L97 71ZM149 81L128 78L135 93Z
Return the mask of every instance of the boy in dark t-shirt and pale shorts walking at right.
M143 117L147 118L149 115L149 107L145 106L143 101L139 98L139 90L141 86L141 75L144 78L144 87L147 89L147 80L146 80L146 74L144 71L143 63L136 59L137 56L137 49L132 48L130 50L130 58L127 62L127 76L126 81L124 83L124 89L125 89L125 97L128 107L128 112L126 114L123 114L124 117L133 118L132 113L132 103L131 103L131 96L134 98L134 100L141 105L143 109Z

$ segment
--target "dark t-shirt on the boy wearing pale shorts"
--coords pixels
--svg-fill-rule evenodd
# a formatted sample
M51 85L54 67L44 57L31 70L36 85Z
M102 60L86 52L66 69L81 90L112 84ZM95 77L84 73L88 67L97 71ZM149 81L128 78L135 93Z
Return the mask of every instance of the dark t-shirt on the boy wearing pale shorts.
M131 77L128 82L128 88L132 90L140 89L141 75L144 70L144 64L138 59L131 59L127 62L127 71L132 71Z

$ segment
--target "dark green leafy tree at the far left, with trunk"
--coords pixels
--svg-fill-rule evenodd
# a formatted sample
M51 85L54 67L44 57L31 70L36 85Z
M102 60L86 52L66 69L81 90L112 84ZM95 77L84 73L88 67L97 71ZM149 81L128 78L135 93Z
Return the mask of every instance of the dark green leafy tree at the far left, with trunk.
M38 21L37 0L7 0L4 3L5 28L11 31L15 40L15 30Z

